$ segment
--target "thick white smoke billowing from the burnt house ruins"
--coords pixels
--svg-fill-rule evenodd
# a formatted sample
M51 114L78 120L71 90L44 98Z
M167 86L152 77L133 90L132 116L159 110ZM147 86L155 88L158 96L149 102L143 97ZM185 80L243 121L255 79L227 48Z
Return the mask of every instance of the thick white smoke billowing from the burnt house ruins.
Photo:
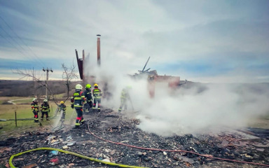
M130 63L132 64L132 63ZM146 78L134 80L127 76L127 63L117 64L117 60L106 60L102 66L93 66L89 73L96 76L95 83L109 85L110 99L102 99L102 106L118 111L120 92L132 85L130 92L133 111L125 113L139 118L139 128L146 132L170 136L203 132L220 127L245 127L249 121L265 115L269 111L268 85L264 84L186 84L177 90L168 83L156 83L156 95L149 97ZM135 73L135 71L134 71ZM94 83L90 83L93 85Z

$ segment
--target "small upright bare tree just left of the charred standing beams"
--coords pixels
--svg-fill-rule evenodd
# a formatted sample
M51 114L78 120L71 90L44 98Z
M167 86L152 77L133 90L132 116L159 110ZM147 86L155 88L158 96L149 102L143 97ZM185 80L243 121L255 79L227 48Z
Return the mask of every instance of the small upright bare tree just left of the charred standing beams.
M71 84L74 82L74 79L78 78L78 71L76 70L76 65L71 64L70 67L65 66L62 64L62 79L64 80L64 85L67 87L67 99L69 98L69 92L71 90ZM67 100L65 99L65 100Z

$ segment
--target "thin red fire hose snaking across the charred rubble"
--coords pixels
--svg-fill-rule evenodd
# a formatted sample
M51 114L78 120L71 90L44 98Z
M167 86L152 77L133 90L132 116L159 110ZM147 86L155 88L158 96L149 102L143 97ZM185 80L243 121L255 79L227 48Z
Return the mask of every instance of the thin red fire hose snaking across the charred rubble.
M88 131L90 132L90 126L89 126L89 123L88 123ZM194 155L200 155L200 156L205 157L205 158L212 158L212 159L216 159L216 160L225 160L225 161L230 161L230 162L240 162L240 163L246 163L246 164L249 164L249 165L258 165L258 166L269 167L269 165L265 165L265 164L261 164L261 163L244 162L244 161L230 160L230 159L225 159L225 158L216 158L216 157L213 157L212 155L203 155L203 154L195 153L195 152L192 152L192 151L184 151L184 150L167 150L167 149L159 149L159 148L143 148L143 147L139 147L139 146L132 146L132 145L127 145L127 144L123 144L123 143L120 143L120 142L114 142L114 141L109 141L109 140L103 139L103 138L101 138L101 137L96 136L96 135L93 134L92 132L90 132L90 134L92 134L92 135L93 135L94 137L96 137L97 139L101 139L102 141L107 141L107 142L109 142L109 143L111 143L111 144L117 144L117 145L127 146L127 147L130 147L130 148L138 148L138 149L142 149L142 150L146 150L146 151L165 151L165 152L184 152L184 153L192 153L192 154L194 154Z

